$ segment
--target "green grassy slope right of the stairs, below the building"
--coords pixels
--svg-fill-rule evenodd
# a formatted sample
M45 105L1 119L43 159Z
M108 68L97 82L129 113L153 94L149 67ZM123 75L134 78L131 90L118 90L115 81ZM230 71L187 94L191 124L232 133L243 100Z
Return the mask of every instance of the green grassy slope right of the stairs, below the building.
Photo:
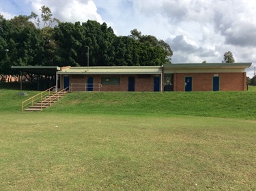
M256 119L254 91L69 93L46 112Z

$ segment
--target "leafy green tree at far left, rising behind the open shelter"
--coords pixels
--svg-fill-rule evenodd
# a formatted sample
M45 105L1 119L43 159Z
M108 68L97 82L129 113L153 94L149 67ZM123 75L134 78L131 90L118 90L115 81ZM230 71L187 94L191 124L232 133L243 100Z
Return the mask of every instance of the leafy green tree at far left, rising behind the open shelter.
M1 70L5 70L2 73L12 74L12 65L38 65L41 62L38 57L40 30L35 28L27 16L1 19L0 26L0 41L4 40L4 46L10 49L5 59L1 60Z

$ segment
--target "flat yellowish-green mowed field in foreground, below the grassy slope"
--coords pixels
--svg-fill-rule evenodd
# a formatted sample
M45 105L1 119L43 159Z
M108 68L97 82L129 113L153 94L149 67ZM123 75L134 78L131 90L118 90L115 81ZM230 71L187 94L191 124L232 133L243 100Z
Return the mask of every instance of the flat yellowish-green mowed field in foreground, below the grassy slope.
M255 121L3 114L1 190L255 190Z

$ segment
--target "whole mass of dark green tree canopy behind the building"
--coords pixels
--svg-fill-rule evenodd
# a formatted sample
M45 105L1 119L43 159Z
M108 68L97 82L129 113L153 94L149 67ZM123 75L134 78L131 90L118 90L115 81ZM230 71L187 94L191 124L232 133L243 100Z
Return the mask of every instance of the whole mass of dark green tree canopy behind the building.
M51 9L42 6L42 14L0 15L0 73L12 74L12 65L162 65L171 63L169 44L137 29L128 36L117 36L106 23L61 23ZM87 48L89 47L89 55Z

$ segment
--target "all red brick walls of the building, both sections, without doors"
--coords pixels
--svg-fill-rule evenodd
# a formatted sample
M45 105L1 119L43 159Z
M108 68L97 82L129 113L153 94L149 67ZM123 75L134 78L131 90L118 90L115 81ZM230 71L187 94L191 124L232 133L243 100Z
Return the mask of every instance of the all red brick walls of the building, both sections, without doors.
M246 91L246 73L176 73L173 75L173 91L184 91L185 77L193 78L193 91L212 91L212 79L214 74L220 77L220 91ZM74 75L73 75L74 76ZM71 83L87 83L86 75L73 77L70 75ZM102 75L108 76L108 75ZM100 75L94 75L94 91L99 91L98 84L101 84ZM109 75L118 76L118 75ZM128 91L128 76L135 77L135 91L154 91L154 75L150 78L139 78L138 75L119 75L120 85L102 85L100 91ZM61 89L63 88L63 75L60 79ZM83 85L73 87L73 91L85 91Z

